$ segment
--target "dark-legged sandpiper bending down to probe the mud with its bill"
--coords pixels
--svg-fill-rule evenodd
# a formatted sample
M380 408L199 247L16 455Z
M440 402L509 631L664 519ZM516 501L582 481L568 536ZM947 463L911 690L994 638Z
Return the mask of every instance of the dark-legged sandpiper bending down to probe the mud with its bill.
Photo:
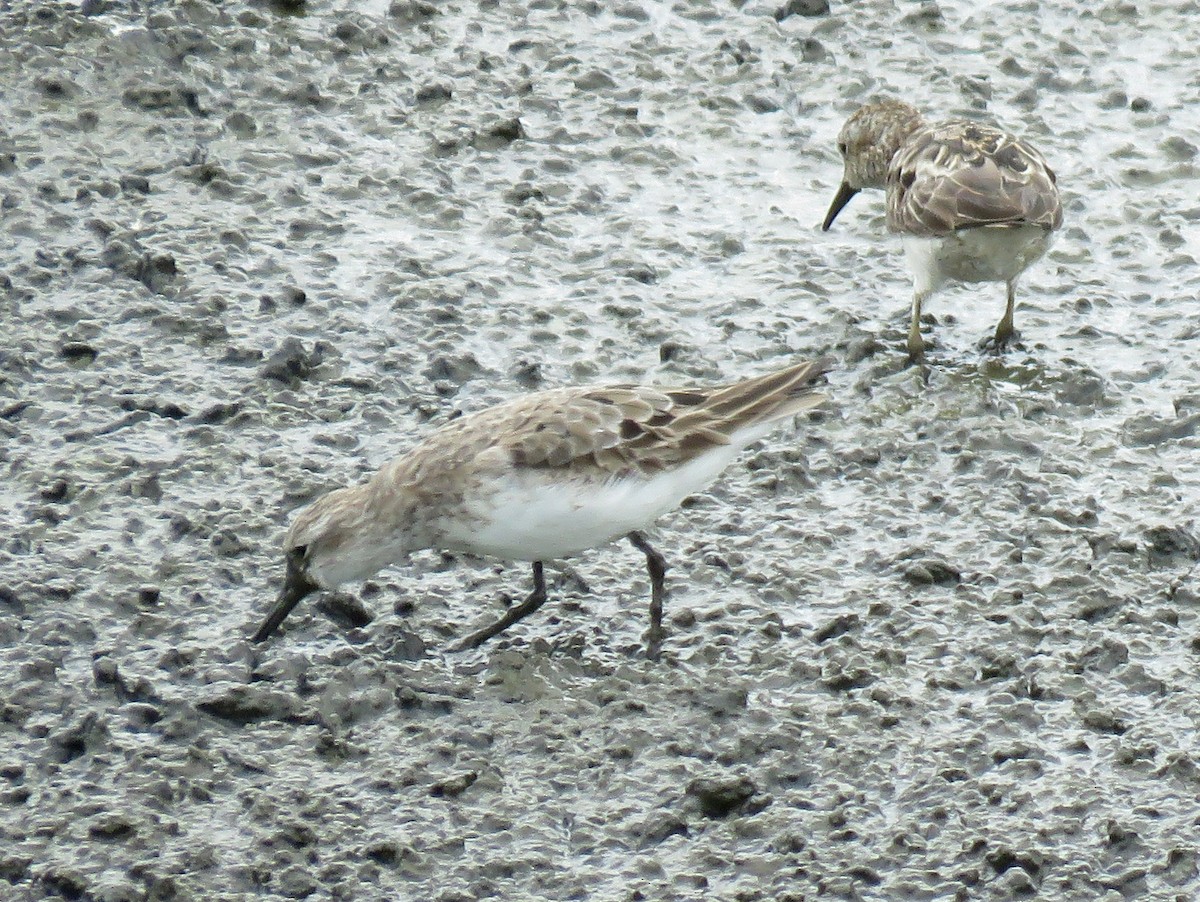
M826 398L830 361L712 387L541 391L454 420L367 482L302 510L287 575L253 636L266 639L306 595L361 581L421 548L533 563L533 593L456 648L475 648L546 601L544 561L625 536L650 576L647 649L662 643L666 560L642 534L780 420Z

